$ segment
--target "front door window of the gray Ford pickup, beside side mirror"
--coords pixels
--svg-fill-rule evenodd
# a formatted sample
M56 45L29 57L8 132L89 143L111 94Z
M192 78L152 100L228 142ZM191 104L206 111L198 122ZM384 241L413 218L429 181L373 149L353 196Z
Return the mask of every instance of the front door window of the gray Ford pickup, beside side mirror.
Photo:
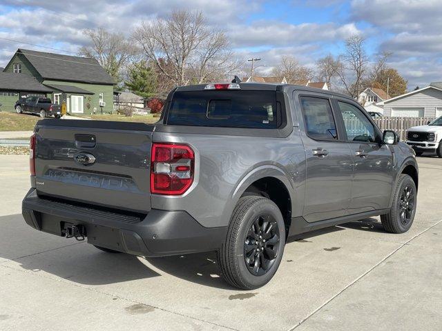
M374 143L376 135L374 126L367 119L362 110L349 103L338 101L339 109L343 114L345 131L349 141L363 141Z

